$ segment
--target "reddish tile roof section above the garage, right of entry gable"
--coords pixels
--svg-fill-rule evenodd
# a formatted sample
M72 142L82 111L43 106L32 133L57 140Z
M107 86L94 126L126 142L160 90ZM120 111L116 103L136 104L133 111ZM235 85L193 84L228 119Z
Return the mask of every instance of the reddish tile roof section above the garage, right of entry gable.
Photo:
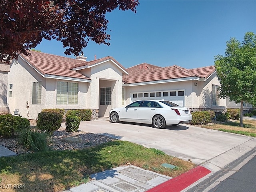
M141 66L138 65L132 67L132 70L129 70L129 68L127 70L130 73L128 75L123 75L123 82L130 84L187 77L207 78L215 71L215 68L214 66L208 66L195 69L185 69L176 65L169 67L153 66L152 68L141 68Z

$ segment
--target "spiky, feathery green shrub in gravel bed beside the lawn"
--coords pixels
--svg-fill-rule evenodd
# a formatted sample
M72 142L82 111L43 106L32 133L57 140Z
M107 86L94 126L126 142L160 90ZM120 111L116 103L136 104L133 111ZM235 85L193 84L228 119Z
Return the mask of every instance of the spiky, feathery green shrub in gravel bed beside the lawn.
M35 152L47 151L49 149L47 143L47 134L37 132L36 130L22 130L19 134L18 142L29 150Z

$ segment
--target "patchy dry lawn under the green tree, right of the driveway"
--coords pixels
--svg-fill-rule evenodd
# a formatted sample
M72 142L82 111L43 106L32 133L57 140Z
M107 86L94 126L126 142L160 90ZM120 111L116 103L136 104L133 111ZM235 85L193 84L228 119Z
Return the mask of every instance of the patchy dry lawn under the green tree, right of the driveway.
M244 127L240 127L239 125L240 125L240 120L237 120L235 122L227 121L224 123L202 125L201 127L256 137L256 121L255 120L243 120Z

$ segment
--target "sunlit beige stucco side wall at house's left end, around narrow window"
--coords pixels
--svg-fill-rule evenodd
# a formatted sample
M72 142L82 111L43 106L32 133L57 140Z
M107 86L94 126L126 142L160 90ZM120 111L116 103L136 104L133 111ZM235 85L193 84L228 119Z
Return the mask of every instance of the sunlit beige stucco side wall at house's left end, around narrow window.
M32 83L42 81L42 104L32 104ZM10 113L14 109L20 111L20 115L29 119L36 119L37 114L45 108L46 80L38 74L24 60L18 58L18 63L12 62L8 74L8 84L12 84L12 97L9 97L8 106ZM28 101L28 104L26 104Z

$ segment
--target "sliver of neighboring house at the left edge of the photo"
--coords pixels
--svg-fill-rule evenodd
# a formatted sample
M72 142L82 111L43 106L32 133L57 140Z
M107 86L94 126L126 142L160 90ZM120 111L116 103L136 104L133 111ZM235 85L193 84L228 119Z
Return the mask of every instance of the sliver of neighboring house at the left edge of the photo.
M0 114L8 114L9 109L7 105L7 85L8 72L10 71L10 64L0 62Z

